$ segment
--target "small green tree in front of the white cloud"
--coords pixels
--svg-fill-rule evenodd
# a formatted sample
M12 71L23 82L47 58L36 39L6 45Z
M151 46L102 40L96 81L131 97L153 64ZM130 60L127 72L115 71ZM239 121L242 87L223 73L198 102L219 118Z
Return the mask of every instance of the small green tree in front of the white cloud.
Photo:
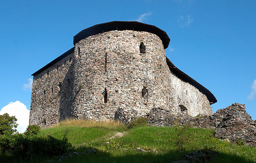
M17 130L15 129L18 124L15 116L9 116L8 113L0 115L0 135L12 135Z

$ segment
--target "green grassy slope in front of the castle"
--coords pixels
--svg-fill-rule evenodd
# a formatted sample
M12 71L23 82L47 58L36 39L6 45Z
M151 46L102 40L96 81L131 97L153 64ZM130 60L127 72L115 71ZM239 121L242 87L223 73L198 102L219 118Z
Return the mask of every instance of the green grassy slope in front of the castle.
M123 136L115 136L122 132ZM41 130L41 135L51 135L54 138L62 138L67 135L73 149L61 162L69 163L165 163L184 159L184 155L191 151L203 149L216 151L217 154L210 162L256 162L256 148L229 143L214 138L214 130L202 128L188 128L184 135L177 131L177 127L133 127L128 129L118 122L93 122L67 120L53 127ZM185 141L187 139L188 141ZM184 142L182 151L178 145ZM146 152L137 150L140 147ZM87 149L95 149L96 154L87 152ZM153 150L158 152L155 152ZM74 155L72 152L78 152ZM11 162L58 162L60 157L44 158L31 156L30 160L12 159ZM9 162L10 157L2 156L2 161ZM0 160L1 162L1 160Z

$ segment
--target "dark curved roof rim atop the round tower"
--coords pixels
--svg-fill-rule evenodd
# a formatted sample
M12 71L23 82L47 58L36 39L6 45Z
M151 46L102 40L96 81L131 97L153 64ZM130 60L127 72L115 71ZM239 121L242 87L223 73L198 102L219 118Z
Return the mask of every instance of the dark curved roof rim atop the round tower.
M165 49L170 43L170 38L167 33L155 25L140 23L138 21L110 21L108 23L93 25L76 34L74 36L74 45L86 37L114 30L133 30L154 33L162 40Z

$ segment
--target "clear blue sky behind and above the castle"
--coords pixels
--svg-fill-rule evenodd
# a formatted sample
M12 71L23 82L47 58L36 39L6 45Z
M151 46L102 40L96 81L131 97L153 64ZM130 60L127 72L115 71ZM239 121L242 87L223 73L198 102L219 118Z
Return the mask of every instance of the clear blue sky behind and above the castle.
M256 119L255 6L253 0L1 1L0 109L17 100L29 109L31 74L72 48L82 29L137 20L166 31L167 57L215 95L214 112L238 102Z

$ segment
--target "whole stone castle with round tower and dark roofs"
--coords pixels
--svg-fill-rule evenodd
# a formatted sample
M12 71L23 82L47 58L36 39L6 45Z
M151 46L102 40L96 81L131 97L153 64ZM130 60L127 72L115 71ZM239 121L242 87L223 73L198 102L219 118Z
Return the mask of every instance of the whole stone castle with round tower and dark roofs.
M112 21L74 36L74 47L33 73L29 124L66 118L129 122L155 108L212 115L212 93L166 57L170 39L154 25Z

